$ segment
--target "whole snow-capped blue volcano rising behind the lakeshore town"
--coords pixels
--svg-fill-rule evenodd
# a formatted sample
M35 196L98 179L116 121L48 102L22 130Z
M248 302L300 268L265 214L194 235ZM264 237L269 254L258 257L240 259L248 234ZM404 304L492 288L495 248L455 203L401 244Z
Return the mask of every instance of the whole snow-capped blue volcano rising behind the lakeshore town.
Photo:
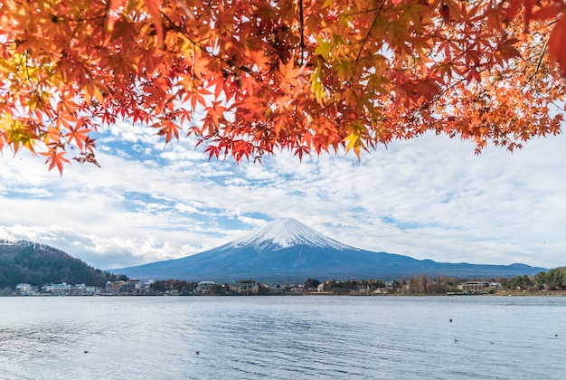
M259 280L262 282L334 279L394 280L437 273L456 278L514 277L545 271L524 264L476 265L417 260L370 252L336 242L293 218L270 223L210 251L182 259L110 270L130 278L153 280Z

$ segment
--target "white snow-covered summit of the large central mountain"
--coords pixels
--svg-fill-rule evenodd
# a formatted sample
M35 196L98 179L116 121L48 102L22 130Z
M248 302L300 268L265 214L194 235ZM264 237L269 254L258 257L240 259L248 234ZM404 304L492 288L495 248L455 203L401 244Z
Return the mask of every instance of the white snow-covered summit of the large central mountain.
M317 233L312 228L293 218L278 219L273 223L269 223L269 225L257 233L250 233L241 239L231 242L230 245L233 247L256 245L259 248L276 245L280 248L285 248L298 244L338 250L353 249L353 247L336 242L322 233Z

